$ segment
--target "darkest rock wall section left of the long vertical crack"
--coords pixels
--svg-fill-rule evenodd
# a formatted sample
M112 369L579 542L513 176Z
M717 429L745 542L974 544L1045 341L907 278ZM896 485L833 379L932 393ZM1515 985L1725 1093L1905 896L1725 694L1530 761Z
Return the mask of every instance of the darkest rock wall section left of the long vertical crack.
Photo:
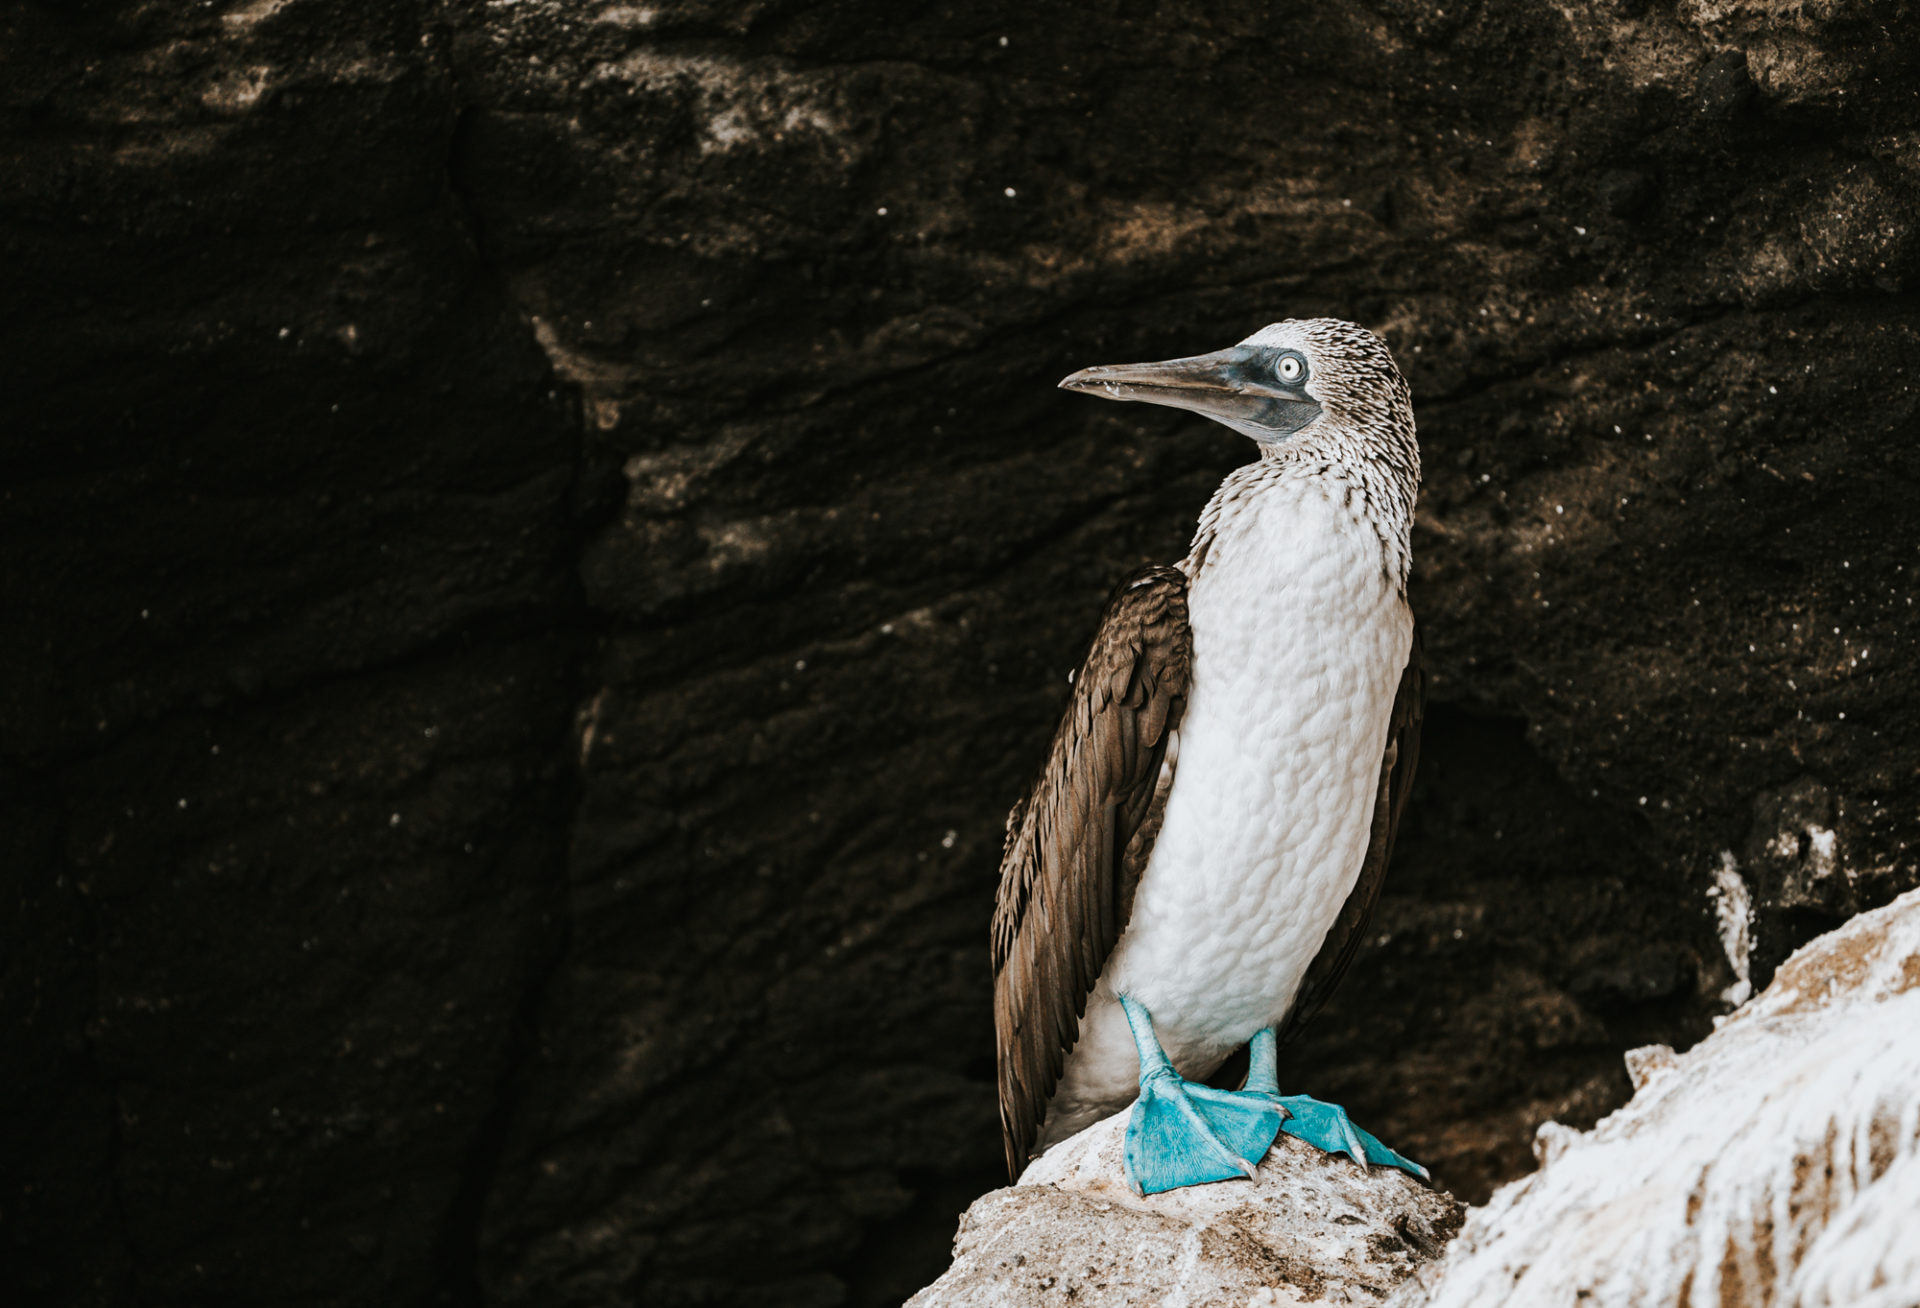
M472 1283L566 930L580 428L426 36L4 19L10 1302Z

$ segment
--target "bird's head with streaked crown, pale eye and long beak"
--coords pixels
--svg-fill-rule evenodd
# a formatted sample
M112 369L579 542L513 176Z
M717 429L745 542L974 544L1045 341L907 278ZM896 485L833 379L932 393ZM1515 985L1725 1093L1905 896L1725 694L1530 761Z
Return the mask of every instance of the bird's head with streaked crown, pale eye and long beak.
M1106 400L1204 413L1263 448L1325 434L1365 457L1413 459L1413 403L1386 344L1338 319L1286 319L1231 350L1081 369L1060 382ZM1317 444L1317 442L1315 442Z

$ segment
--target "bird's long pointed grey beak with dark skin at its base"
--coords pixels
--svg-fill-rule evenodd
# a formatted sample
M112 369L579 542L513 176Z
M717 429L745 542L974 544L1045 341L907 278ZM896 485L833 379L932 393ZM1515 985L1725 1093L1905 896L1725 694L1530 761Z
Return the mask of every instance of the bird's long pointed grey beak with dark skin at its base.
M1267 351L1248 346L1165 363L1081 369L1062 380L1060 388L1192 409L1254 440L1284 440L1321 411L1317 400L1273 375Z

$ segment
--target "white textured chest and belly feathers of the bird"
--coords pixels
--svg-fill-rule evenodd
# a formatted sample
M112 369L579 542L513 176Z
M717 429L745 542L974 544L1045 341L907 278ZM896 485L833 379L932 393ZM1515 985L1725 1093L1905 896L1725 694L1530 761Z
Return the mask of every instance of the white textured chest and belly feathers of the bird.
M1219 505L1188 613L1165 824L1102 991L1204 1064L1286 1014L1354 889L1413 617L1379 532L1319 478Z

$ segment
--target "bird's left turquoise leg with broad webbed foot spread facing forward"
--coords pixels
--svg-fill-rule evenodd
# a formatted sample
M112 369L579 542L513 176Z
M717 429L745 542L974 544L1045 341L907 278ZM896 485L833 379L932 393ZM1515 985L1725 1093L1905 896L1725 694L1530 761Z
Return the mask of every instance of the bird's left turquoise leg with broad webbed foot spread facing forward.
M1154 1018L1119 997L1140 1053L1140 1097L1127 1118L1127 1183L1137 1195L1254 1175L1281 1131L1284 1110L1271 1093L1217 1091L1187 1081L1154 1035ZM1271 1035L1271 1031L1269 1031ZM1271 1056L1269 1056L1271 1062Z

